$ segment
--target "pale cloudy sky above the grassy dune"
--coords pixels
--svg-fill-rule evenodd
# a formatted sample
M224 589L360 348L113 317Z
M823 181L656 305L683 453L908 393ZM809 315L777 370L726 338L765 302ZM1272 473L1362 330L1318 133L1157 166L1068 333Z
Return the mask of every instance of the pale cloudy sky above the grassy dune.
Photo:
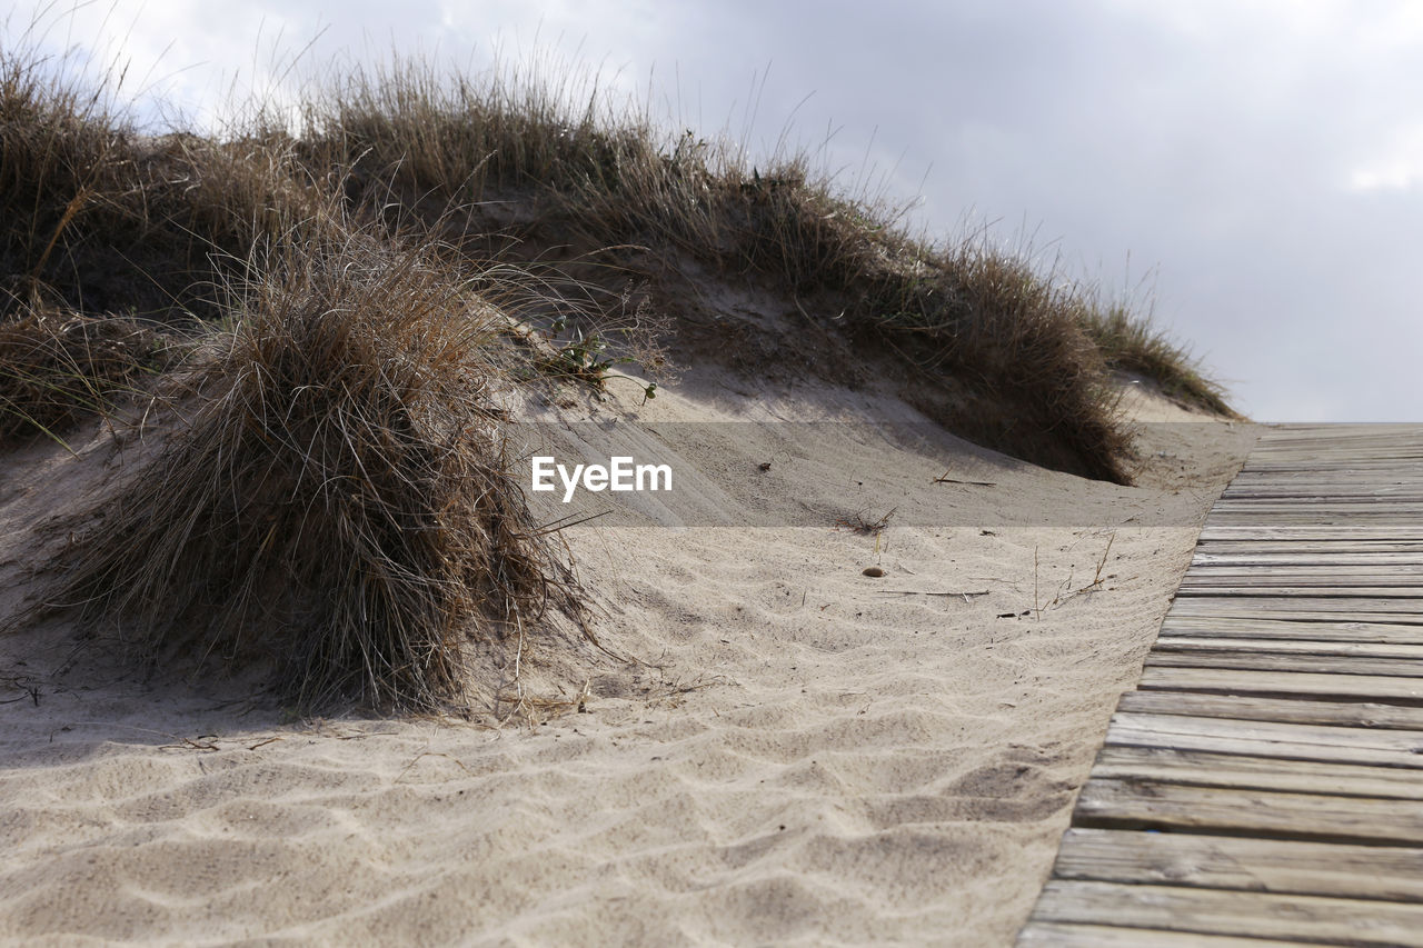
M27 30L198 124L393 50L593 71L1130 299L1257 420L1423 421L1420 3L21 0Z

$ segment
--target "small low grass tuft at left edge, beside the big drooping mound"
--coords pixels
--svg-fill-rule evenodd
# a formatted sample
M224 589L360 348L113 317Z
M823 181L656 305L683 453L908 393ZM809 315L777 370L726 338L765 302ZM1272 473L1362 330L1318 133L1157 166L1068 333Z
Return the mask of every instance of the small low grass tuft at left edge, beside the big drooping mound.
M41 434L63 443L172 359L171 342L131 317L38 307L0 319L0 447Z

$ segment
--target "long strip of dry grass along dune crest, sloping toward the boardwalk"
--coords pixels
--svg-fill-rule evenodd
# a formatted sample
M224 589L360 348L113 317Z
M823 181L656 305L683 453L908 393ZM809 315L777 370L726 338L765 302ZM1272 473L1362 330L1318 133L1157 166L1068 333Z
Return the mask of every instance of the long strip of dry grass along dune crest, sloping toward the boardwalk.
M652 273L693 258L827 302L820 309L861 342L969 389L942 406L951 427L1050 467L1127 480L1114 369L1228 411L1218 386L1144 320L1104 315L1089 288L982 241L914 239L892 206L840 195L804 155L748 167L726 144L602 108L596 93L581 104L568 85L443 81L417 65L330 84L306 128L313 159L354 169L376 204L418 215L524 201L558 233L649 248Z

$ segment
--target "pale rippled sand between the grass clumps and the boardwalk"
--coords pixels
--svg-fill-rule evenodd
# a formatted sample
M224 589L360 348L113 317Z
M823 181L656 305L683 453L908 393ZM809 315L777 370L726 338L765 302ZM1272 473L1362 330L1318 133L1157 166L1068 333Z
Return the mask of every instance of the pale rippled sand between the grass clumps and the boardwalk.
M1252 434L1133 394L1183 424L1120 488L877 434L916 416L872 394L694 373L612 407L669 423L694 500L568 531L638 660L535 649L522 685L586 682L585 713L283 722L64 629L0 639L0 938L1009 944ZM827 420L857 424L795 424ZM74 464L0 464L3 611ZM889 508L878 554L834 525Z

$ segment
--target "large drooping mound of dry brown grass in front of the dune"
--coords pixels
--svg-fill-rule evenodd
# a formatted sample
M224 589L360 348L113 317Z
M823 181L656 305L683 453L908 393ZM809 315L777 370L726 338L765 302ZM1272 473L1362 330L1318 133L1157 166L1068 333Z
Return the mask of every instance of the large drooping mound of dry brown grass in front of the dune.
M155 659L269 662L302 703L414 707L460 693L470 636L581 622L505 464L481 300L383 236L262 269L51 602Z

